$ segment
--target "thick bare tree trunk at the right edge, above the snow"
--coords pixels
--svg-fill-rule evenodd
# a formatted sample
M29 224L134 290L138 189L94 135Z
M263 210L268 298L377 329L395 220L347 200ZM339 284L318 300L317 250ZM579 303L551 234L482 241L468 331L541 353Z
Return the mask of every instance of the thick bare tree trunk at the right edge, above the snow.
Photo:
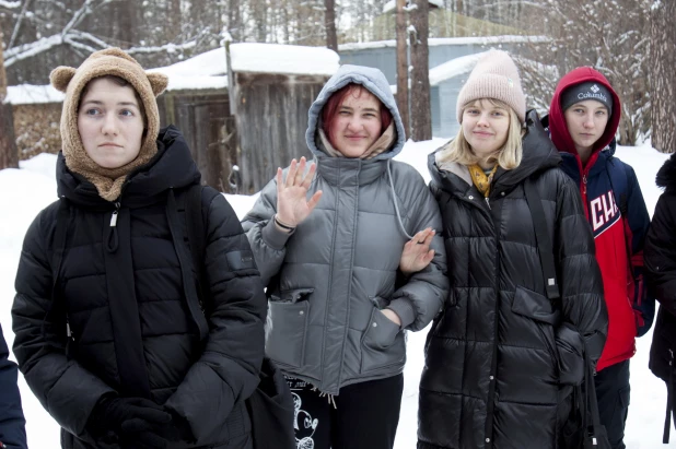
M656 1L651 11L650 70L652 144L663 153L676 152L674 94L676 94L676 2Z

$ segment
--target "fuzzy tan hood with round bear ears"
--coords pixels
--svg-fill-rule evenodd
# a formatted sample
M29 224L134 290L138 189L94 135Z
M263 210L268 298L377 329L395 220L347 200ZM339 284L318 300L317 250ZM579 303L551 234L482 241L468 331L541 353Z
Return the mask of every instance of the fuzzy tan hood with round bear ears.
M114 75L127 80L139 94L145 110L145 133L139 155L118 168L97 165L84 151L78 131L78 107L86 84L100 76ZM93 52L78 69L57 67L49 75L51 85L66 93L61 113L61 140L66 165L71 172L91 181L101 198L115 201L121 191L127 175L148 163L158 153L155 140L160 133L160 113L155 97L165 88L168 79L161 73L145 73L143 68L119 48Z

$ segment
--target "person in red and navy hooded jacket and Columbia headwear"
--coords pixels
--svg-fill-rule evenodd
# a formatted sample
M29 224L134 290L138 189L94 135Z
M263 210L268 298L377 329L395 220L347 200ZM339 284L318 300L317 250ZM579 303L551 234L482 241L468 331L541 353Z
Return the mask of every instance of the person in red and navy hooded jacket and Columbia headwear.
M650 216L633 168L614 156L620 115L608 80L581 67L559 81L545 119L561 153L561 168L580 186L594 232L609 321L594 380L601 424L613 449L625 449L629 358L636 353L634 338L650 329L655 307L643 283Z

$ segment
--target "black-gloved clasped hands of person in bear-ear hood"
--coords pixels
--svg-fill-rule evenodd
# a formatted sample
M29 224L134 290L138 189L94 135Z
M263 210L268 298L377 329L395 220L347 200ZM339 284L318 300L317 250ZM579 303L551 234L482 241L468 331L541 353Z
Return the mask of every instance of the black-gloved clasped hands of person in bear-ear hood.
M89 424L94 435L117 435L125 449L164 449L177 440L171 422L172 415L148 399L107 397L98 401Z

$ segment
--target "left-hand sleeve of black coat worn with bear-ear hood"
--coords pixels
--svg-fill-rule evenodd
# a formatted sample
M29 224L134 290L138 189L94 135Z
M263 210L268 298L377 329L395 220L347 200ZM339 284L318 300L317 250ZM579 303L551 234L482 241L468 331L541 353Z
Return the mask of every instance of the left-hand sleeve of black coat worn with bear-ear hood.
M46 250L56 220L43 211L26 233L12 306L13 351L28 387L61 427L86 438L94 405L114 392L103 380L66 356L66 316L53 309L51 264ZM49 231L51 229L51 231Z

